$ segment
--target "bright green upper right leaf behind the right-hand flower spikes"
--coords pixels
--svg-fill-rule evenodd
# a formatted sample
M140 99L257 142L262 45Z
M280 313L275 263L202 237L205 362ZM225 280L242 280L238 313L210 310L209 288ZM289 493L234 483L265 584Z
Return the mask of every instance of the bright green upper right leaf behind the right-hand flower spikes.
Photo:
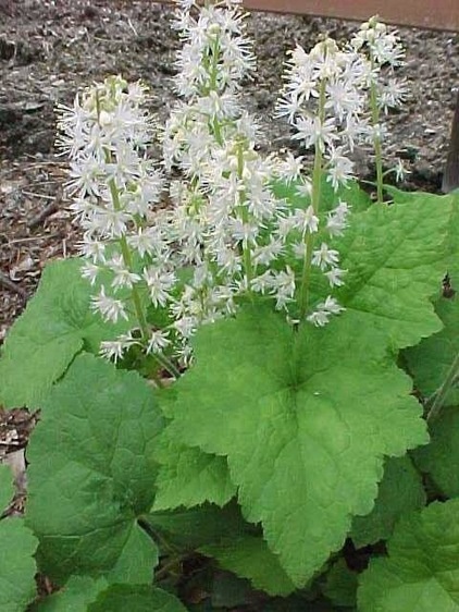
M442 329L431 298L447 269L450 217L451 198L417 194L351 216L336 246L348 270L338 302L358 311L361 325L382 333L394 351Z

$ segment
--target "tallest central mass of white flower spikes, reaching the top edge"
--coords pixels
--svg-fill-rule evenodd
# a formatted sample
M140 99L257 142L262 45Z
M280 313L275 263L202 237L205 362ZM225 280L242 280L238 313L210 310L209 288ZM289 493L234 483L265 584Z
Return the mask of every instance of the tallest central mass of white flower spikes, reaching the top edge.
M175 24L186 41L175 82L183 99L163 136L166 168L183 176L171 184L174 260L194 270L171 306L184 352L199 325L233 314L240 296L272 296L276 308L287 307L296 280L283 255L290 232L307 223L272 189L275 178L299 178L301 159L262 158L257 121L240 105L241 79L255 68L243 13L236 3L203 7L196 19L194 10L186 3Z

